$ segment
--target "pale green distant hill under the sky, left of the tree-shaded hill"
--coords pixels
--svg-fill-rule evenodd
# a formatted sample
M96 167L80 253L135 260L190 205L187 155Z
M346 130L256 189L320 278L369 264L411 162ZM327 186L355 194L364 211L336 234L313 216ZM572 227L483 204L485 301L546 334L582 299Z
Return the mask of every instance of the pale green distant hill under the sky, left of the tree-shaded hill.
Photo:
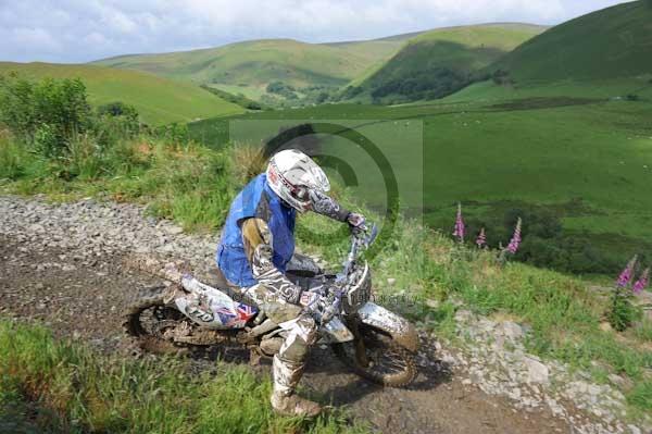
M394 40L319 45L265 39L204 50L123 55L96 63L201 84L260 87L284 82L294 87L338 86L389 58L401 44Z

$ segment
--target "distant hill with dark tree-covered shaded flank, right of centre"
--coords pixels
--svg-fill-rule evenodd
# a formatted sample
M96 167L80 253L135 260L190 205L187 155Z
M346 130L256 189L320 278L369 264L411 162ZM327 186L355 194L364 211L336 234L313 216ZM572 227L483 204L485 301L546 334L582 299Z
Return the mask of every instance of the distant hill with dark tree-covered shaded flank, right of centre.
M469 74L544 28L497 23L427 32L410 39L387 63L352 85L374 98L438 98L463 87Z

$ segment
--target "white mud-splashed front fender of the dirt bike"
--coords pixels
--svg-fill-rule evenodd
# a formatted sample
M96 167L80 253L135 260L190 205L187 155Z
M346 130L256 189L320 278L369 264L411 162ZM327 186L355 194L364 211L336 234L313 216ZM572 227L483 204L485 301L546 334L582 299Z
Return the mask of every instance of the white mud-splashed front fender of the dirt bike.
M403 317L371 301L367 301L360 308L358 314L364 324L386 332L401 347L412 352L418 349L418 334L416 333L416 328Z

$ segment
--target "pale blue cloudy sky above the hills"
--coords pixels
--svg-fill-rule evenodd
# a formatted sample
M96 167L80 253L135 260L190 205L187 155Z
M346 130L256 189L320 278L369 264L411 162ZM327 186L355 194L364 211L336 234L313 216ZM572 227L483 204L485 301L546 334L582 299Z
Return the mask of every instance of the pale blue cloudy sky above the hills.
M559 24L623 0L0 0L0 61L77 63L229 42L373 39L489 22Z

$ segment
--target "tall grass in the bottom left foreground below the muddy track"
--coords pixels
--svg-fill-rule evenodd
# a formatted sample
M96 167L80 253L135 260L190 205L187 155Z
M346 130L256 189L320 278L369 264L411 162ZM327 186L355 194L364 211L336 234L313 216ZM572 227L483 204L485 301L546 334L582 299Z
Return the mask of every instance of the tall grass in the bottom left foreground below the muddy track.
M362 433L341 413L281 418L271 381L217 364L103 358L46 328L0 321L0 431L54 433Z

